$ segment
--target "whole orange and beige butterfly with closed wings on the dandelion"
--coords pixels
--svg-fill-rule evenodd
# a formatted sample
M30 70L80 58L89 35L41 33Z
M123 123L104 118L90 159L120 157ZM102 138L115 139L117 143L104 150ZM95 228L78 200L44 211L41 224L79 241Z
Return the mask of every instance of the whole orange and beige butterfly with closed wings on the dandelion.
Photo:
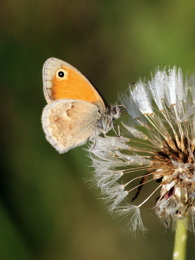
M79 70L56 58L43 66L43 92L48 103L41 118L43 131L59 153L114 129L114 119L122 113L120 105L107 105Z

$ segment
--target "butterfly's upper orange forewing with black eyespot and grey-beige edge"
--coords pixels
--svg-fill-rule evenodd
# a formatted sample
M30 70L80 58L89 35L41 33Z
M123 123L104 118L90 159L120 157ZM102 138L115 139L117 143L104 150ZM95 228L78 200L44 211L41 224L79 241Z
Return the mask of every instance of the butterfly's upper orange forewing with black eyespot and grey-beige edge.
M105 111L106 101L91 82L72 65L49 58L43 66L43 91L47 103L74 99L93 103Z

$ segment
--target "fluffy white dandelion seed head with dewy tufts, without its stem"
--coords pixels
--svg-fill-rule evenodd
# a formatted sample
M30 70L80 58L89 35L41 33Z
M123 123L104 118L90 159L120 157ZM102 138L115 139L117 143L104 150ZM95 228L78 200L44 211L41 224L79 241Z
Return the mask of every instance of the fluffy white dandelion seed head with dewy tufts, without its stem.
M187 219L188 229L195 233L194 76L183 83L181 69L158 68L151 81L139 81L122 102L129 116L121 122L121 138L98 136L88 149L95 168L92 181L100 187L108 210L130 216L129 229L145 232L140 207L153 198L167 229ZM132 178L132 173L137 176ZM131 204L150 181L158 183L150 195L139 205Z

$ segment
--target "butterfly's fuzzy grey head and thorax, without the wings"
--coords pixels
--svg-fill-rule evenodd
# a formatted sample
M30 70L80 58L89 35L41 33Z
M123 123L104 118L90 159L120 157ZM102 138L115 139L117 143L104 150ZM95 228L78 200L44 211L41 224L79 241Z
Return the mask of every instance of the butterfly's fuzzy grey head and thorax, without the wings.
M114 127L114 120L119 118L121 114L121 106L107 106L105 112L102 113L101 118L98 120L96 127L100 132L107 133Z

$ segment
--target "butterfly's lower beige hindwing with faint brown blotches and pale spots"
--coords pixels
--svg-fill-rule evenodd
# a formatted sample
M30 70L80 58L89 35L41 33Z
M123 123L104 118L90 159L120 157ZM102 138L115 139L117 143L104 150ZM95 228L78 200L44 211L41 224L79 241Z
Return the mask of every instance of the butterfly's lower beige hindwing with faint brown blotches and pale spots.
M98 119L100 113L96 105L80 100L59 99L43 109L42 125L47 140L59 153L64 153L95 135Z

